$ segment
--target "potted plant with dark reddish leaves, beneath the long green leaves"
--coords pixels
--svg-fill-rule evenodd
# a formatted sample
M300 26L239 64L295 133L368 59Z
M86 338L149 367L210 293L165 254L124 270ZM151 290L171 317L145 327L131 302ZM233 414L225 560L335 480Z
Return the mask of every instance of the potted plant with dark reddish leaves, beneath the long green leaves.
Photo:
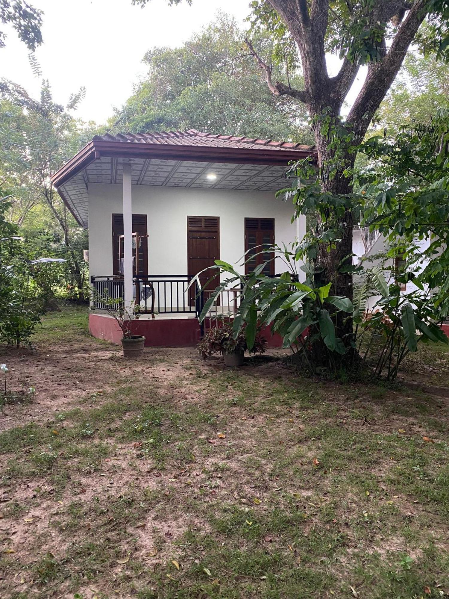
M251 353L263 353L265 352L265 346L266 339L257 333ZM210 329L205 334L196 346L196 350L204 359L209 358L214 353L221 353L226 366L242 366L245 350L247 350L245 329L241 329L237 337L234 338L232 323L223 321L219 323L219 326Z

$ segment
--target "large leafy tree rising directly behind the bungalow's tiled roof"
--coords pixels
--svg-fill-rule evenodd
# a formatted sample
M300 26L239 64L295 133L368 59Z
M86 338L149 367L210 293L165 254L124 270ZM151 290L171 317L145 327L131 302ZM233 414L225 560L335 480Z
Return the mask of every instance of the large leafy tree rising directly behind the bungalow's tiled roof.
M274 52L266 33L256 36L254 46ZM195 128L313 143L305 108L290 96L272 95L241 29L225 13L180 48L148 50L144 63L148 75L111 120L114 131ZM296 86L302 83L288 59L275 72Z

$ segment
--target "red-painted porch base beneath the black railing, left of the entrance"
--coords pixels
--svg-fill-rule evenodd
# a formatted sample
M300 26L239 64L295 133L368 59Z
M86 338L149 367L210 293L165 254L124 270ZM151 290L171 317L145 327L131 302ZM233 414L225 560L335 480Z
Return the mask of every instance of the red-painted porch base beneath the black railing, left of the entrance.
M134 335L145 336L145 347L193 347L200 337L196 318L138 319L132 321L131 330ZM117 322L104 314L89 314L89 332L117 344L122 338Z

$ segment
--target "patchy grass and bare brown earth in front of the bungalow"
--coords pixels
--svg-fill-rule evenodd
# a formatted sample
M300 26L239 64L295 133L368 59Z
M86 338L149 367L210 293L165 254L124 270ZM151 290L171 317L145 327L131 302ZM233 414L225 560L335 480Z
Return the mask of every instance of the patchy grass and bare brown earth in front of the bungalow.
M36 388L0 414L0 597L449 595L448 347L341 385L126 361L84 308L34 344L0 352Z

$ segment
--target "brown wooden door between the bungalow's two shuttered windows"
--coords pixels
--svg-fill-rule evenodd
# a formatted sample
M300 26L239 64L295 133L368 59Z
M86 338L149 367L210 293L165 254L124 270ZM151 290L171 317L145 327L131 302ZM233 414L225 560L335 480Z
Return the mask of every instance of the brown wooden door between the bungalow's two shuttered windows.
M214 261L218 259L220 259L220 217L187 216L187 274L198 274L204 268L213 266ZM202 273L199 277L201 285L204 285L214 273L215 270ZM220 275L217 273L207 289L215 289L219 284ZM192 295L194 299L194 290L190 295L190 301Z

